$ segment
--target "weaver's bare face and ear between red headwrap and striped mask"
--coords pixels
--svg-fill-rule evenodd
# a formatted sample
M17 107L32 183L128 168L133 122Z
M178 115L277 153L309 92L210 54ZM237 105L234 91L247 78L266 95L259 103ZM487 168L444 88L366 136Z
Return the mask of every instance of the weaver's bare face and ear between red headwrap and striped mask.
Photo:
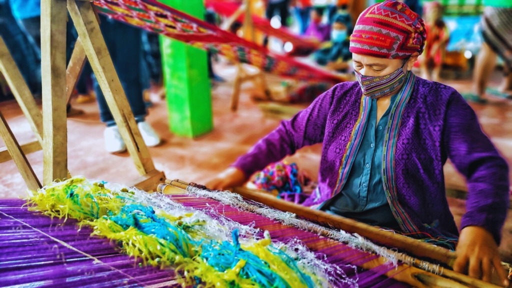
M403 71L410 71L418 59L418 53L414 53L407 63L403 59L386 59L366 55L352 54L352 63L355 71L365 76L385 76L395 72L403 66Z

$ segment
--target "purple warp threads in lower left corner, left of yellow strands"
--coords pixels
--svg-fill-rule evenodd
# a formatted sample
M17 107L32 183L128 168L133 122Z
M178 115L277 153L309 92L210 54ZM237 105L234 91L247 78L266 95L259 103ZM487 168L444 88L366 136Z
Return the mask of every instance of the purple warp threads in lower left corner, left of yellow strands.
M0 286L33 283L34 287L141 287L175 279L171 270L139 266L116 251L108 239L91 237L92 230L76 220L53 220L21 208L24 200L0 200ZM74 248L96 257L95 263L81 253L37 232L21 220ZM177 285L175 285L177 286Z

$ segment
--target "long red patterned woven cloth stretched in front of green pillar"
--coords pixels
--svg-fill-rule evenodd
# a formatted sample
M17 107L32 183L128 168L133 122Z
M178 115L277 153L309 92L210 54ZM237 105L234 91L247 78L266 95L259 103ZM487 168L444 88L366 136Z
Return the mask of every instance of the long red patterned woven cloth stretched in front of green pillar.
M99 13L121 22L251 64L268 73L301 80L334 83L342 80L337 75L299 63L290 57L270 53L264 47L154 0L95 0L94 4Z

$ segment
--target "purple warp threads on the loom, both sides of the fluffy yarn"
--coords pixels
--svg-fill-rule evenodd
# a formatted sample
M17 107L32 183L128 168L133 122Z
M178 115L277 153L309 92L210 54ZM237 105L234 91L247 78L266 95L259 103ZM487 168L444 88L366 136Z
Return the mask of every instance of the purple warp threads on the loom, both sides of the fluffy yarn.
M71 191L72 189L68 189ZM71 193L73 193L71 191ZM151 197L151 196L150 196ZM159 197L166 197L160 195ZM169 196L170 197L170 196ZM160 198L160 201L162 198ZM407 284L387 278L385 273L399 274L406 270L401 264L385 262L371 270L358 268L378 258L368 252L325 237L281 224L261 215L241 211L216 200L192 195L173 195L172 201L184 207L203 210L215 217L227 217L246 227L270 232L273 241L301 241L318 258L334 264L345 280L343 287L406 287ZM115 287L176 286L171 269L147 267L116 251L115 243L91 237L92 230L77 222L51 219L22 207L23 200L0 200L0 279L2 286L32 283L35 286ZM325 259L324 259L325 257ZM140 258L139 258L140 259Z

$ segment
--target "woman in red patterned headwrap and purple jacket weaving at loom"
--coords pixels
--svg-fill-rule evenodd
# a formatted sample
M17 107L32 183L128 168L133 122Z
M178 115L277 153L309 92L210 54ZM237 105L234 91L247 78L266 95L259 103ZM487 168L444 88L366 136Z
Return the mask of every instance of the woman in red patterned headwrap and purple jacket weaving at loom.
M450 158L467 179L454 270L489 281L508 200L508 167L455 89L411 69L423 20L387 0L361 13L350 39L357 81L340 83L261 139L211 189L239 186L298 149L323 143L318 188L304 205L408 235L457 238L445 196Z

